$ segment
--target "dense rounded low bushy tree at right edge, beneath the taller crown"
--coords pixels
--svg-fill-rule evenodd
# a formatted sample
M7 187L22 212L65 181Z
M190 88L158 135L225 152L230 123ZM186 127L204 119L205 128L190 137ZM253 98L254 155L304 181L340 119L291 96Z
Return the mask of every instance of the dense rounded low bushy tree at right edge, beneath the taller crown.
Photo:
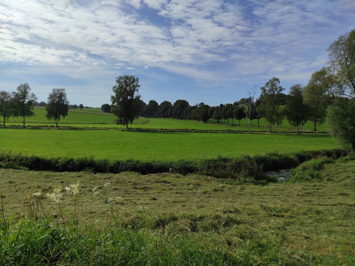
M351 145L355 151L355 99L338 97L334 105L329 106L327 125L332 137Z

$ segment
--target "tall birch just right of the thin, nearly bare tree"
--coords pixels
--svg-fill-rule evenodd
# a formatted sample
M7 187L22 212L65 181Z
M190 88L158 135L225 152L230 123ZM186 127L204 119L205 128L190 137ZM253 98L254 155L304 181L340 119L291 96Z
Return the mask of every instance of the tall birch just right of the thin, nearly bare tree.
M280 86L279 78L272 77L260 89L260 105L257 107L257 112L262 113L266 122L269 123L269 132L271 133L271 126L276 123L276 115L280 106L280 94L284 88Z

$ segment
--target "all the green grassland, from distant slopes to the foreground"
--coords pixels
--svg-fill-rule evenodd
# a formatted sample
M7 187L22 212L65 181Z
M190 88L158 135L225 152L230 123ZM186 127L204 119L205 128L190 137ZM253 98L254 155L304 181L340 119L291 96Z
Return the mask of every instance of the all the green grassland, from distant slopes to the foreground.
M305 125L306 131L301 134L290 133L294 129L290 131L287 122L276 128L279 133L269 134L261 132L267 130L261 120L261 127L252 127L255 132L247 134L237 132L246 131L246 119L239 127L142 117L126 131L113 123L115 117L110 114L72 110L60 120L57 129L50 127L53 123L44 117L44 109L34 110L37 116L26 118L29 127L20 128L21 118L11 117L7 122L9 127L0 128L2 154L11 151L9 154L15 154L15 158L22 153L24 161L30 161L29 156L35 155L49 158L54 164L59 164L58 158L80 161L86 156L96 162L117 159L136 164L137 161L129 161L134 159L163 162L161 166L164 161L179 164L179 160L201 162L217 156L236 158L274 151L284 162L297 163L298 157L292 152L299 152L301 158L303 151L340 147L324 133L326 126L318 127L323 133L310 132L311 123ZM332 156L332 152L328 154ZM260 158L268 160L268 156L273 154ZM217 164L212 164L211 173ZM32 264L39 260L51 264L96 265L103 264L103 260L118 265L186 265L186 261L190 265L355 263L355 169L351 154L338 160L327 159L326 164L315 168L316 174L311 172L317 178L310 182L286 183L263 175L263 180L253 181L251 176L242 177L243 169L232 178L215 178L212 176L223 176L223 172L216 170L216 175L202 175L193 170L181 175L178 168L169 171L168 166L165 172L158 171L159 174L141 175L133 170L118 171L119 174L104 170L106 174L99 174L85 166L73 171L71 165L64 165L72 172L63 172L58 166L56 170L60 172L50 172L21 170L26 168L8 161L2 165L14 169L0 168L4 205L1 215L5 217L2 221L11 224L9 231L2 231L5 244L1 248L6 255L0 263L16 261L13 254L17 252ZM261 165L252 165L260 171ZM77 214L73 212L73 196L64 190L76 183L79 184L75 199ZM58 185L61 208L49 196ZM33 193L39 196L34 197ZM43 209L32 213L28 206L38 206L39 202ZM64 231L55 231L62 229L35 221L37 215L44 218L44 214L44 222L59 223ZM26 218L18 219L20 216ZM18 234L24 245L17 247L13 244L15 239L5 237L11 234ZM56 234L60 237L55 238ZM54 246L43 242L47 241L47 235L53 235ZM31 254L28 249L22 249L25 246L31 246Z

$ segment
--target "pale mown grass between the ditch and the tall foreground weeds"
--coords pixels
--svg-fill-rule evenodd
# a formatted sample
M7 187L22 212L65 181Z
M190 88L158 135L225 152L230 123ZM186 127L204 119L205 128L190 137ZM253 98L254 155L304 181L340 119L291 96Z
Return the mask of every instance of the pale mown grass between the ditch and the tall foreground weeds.
M104 198L123 222L134 224L140 213L152 219L151 230L174 238L201 236L209 245L231 254L244 254L258 265L339 265L355 256L355 162L325 165L321 182L270 183L266 186L228 185L210 177L130 173L55 173L0 169L0 191L5 212L23 213L19 201L31 187L80 182L80 220L110 222ZM111 183L105 189L104 183ZM99 195L92 189L99 186ZM38 189L36 189L38 190ZM63 191L62 208L71 212L71 196ZM58 206L48 197L42 202L51 217ZM69 218L69 217L67 217ZM137 220L138 219L138 220ZM99 226L100 222L97 223ZM163 229L160 226L163 225ZM166 227L165 227L166 225ZM191 231L191 232L190 232ZM242 255L240 255L242 256ZM311 257L317 260L311 262ZM343 261L344 262L344 261ZM354 262L354 260L353 260Z

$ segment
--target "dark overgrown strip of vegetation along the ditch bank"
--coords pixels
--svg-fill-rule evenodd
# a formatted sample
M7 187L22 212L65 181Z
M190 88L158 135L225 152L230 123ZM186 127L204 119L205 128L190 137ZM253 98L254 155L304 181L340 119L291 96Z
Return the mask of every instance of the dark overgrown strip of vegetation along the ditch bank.
M0 150L0 167L6 168L6 165L11 163L27 167L30 170L91 171L114 174L132 171L143 175L176 172L182 175L199 173L217 178L253 178L255 180L263 180L265 176L262 171L265 170L296 167L304 161L320 156L336 159L346 156L350 152L350 150L345 149L332 149L298 151L294 153L272 152L253 156L241 155L235 158L219 156L201 160L141 161L132 159L95 159L94 156L43 158L36 155L28 156Z

